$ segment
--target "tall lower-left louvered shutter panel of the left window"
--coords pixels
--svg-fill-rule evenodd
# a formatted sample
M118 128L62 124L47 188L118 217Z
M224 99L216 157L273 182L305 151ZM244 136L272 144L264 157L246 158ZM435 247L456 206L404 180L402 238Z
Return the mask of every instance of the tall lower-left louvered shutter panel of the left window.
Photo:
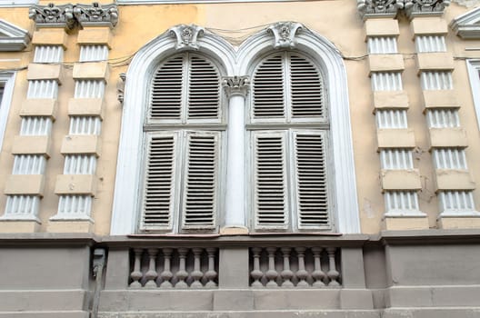
M172 230L177 135L148 134L142 230Z

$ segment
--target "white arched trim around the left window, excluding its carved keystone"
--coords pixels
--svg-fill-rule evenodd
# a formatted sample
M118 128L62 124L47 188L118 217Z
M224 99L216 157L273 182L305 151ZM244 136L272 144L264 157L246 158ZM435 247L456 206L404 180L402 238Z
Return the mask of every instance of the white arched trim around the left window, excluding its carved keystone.
M175 37L169 32L156 37L135 55L125 81L122 129L118 146L115 196L110 234L135 233L143 152L143 124L149 83L155 65L175 54ZM205 32L197 40L199 52L214 58L227 75L235 74L235 51L221 37Z

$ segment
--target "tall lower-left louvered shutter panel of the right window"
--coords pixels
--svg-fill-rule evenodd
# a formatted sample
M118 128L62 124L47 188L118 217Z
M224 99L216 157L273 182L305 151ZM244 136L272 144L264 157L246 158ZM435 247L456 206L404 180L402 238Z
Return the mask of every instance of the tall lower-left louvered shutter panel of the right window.
M285 133L254 133L254 209L256 229L288 227Z

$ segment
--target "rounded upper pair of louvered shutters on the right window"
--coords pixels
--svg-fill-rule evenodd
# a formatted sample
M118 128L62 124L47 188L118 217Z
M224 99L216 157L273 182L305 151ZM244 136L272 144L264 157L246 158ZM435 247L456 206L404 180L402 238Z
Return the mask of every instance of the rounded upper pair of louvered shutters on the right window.
M252 95L252 122L325 121L322 76L305 56L285 51L266 57L255 69Z

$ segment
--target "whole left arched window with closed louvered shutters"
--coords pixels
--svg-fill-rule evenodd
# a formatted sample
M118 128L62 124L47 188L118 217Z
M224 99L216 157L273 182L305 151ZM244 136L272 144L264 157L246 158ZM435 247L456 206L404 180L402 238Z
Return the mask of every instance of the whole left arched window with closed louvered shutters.
M214 231L223 184L221 71L184 52L156 68L145 115L140 230Z

